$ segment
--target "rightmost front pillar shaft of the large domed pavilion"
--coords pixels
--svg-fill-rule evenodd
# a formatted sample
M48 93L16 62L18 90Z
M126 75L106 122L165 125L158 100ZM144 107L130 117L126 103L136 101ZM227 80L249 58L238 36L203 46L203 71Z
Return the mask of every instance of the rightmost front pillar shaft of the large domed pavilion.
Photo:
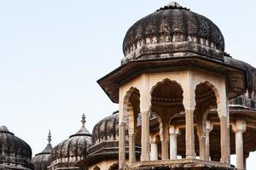
M221 116L220 118L220 145L221 145L221 158L220 161L223 163L230 163L230 133L228 128L227 116Z

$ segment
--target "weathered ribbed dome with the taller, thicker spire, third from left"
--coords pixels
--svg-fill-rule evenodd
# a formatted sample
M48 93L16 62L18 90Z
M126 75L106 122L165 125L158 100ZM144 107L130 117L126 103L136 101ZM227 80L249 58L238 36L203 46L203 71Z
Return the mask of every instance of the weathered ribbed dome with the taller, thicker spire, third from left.
M76 167L75 162L84 159L87 149L91 145L91 134L85 128L85 116L82 116L82 127L75 133L57 144L52 150L51 166L55 167Z

